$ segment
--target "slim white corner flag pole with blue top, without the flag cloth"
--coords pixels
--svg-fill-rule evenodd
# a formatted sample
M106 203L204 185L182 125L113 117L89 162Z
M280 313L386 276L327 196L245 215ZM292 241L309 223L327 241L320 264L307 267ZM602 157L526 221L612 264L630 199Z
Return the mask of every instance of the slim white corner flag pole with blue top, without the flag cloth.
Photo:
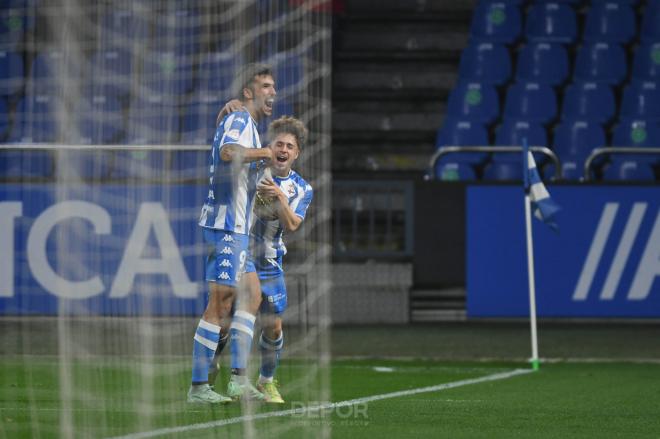
M536 335L536 283L534 279L534 242L532 240L532 201L529 196L529 164L527 139L523 139L523 171L525 180L525 234L527 241L527 279L529 282L529 325L532 338L532 369L539 370L539 345Z

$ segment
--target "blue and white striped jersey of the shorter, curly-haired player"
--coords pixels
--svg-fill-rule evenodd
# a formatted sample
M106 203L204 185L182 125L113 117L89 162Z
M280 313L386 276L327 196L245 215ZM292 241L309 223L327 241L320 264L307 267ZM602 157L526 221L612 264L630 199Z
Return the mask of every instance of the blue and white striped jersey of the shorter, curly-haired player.
M312 202L314 193L312 187L295 171L289 172L287 177L273 176L273 181L282 189L289 199L289 206L300 218L305 219L307 208ZM286 246L282 241L284 228L279 220L264 220L255 216L252 225L252 238L254 240L254 257L274 259L286 254Z

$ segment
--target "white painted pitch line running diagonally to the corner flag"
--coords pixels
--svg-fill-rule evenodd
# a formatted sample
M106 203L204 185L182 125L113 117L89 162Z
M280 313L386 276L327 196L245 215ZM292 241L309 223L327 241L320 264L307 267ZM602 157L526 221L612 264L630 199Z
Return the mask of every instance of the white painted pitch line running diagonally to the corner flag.
M307 413L307 412L317 412L317 411L321 411L321 410L331 410L331 409L338 408L338 407L346 407L346 406L351 406L351 405L356 405L356 404L364 404L364 403L372 402L372 401L380 401L382 399L399 398L399 397L402 397L402 396L417 395L417 394L420 394L420 393L438 392L440 390L454 389L456 387L461 387L461 386L469 386L470 384L479 384L479 383L485 383L485 382L488 382L488 381L505 380L507 378L511 378L511 377L514 377L514 376L517 376L517 375L528 374L530 372L533 372L533 371L531 369L514 369L514 370L511 370L511 371L508 371L508 372L495 373L495 374L492 374L492 375L486 375L486 376L483 376L483 377L471 378L471 379L467 379L467 380L453 381L453 382L450 382L450 383L438 384L438 385L435 385L435 386L419 387L417 389L401 390L401 391L398 391L398 392L383 393L383 394L380 394L380 395L366 396L364 398L349 399L349 400L346 400L346 401L320 404L320 405L315 405L315 406L310 406L310 407L301 407L301 408L297 408L297 409L289 409L289 410L280 410L280 411L276 411L276 412L259 413L259 414L256 414L256 415L237 416L235 418L221 419L221 420L218 420L218 421L211 421L211 422L202 422L200 424L182 425L180 427L161 428L159 430L145 431L145 432L141 432L141 433L133 433L133 434L125 435L125 436L116 436L112 439L142 439L142 438L150 438L150 437L156 437L156 436L161 436L161 435L166 435L166 434L188 433L188 432L197 431L197 430L207 430L207 429L210 429L210 428L223 427L225 425L238 424L240 422L257 421L257 420L260 420L260 419L267 419L267 418L279 418L279 417L283 417L283 416L304 414L304 413Z

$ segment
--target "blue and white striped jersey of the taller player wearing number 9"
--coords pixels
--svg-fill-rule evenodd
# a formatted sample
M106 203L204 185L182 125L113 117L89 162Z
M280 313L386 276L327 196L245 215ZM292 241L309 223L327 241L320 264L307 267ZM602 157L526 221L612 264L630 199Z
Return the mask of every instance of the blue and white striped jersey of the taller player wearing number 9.
M199 225L249 235L261 162L232 163L220 158L224 145L261 148L257 124L247 111L236 111L222 119L213 138L209 159L209 193Z

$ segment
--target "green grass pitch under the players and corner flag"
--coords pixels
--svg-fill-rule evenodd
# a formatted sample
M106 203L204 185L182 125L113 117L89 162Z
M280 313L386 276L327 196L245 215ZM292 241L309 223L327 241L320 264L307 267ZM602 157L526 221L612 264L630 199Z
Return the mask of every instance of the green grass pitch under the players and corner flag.
M322 430L337 438L659 437L660 364L543 364L538 372L469 384L527 367L346 359L332 361L325 371L288 360L280 368L287 404L209 408L185 402L188 358L94 357L61 363L54 356L4 356L0 438L100 438L176 427L158 437L309 438ZM325 379L329 401L358 400L306 414L275 413L327 402L313 391L324 388ZM443 383L456 387L387 396ZM360 400L377 395L383 399ZM269 412L273 416L259 419ZM239 416L254 420L246 425L235 419Z

